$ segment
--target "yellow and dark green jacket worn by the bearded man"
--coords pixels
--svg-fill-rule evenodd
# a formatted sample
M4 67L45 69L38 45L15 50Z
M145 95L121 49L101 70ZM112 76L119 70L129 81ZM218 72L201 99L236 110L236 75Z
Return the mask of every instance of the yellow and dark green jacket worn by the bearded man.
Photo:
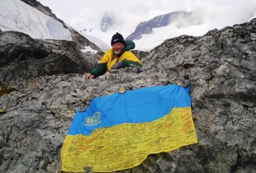
M112 49L108 49L103 55L100 62L95 68L92 69L91 74L94 77L101 76L105 72L111 72L111 67L118 61L123 61L121 68L126 68L130 64L135 66L142 66L140 59L136 57L135 54L131 53L129 50L135 48L135 43L131 40L126 41L126 46L122 49L120 54L114 54Z

